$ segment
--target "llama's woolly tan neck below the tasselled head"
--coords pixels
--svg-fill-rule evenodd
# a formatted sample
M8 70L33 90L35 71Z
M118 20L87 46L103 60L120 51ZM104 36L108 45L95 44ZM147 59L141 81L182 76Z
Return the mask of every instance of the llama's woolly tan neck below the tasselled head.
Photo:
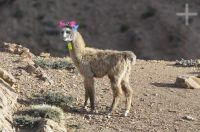
M81 34L76 31L73 34L72 49L69 51L70 57L72 58L75 65L79 65L82 56L85 52L85 42Z

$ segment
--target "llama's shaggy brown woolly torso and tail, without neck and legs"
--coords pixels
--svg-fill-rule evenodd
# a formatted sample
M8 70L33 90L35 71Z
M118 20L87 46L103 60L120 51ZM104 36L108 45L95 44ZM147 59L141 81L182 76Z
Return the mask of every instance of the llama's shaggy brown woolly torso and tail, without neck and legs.
M91 66L95 77L102 77L113 69L127 64L135 64L136 56L131 51L114 51L86 48L84 60Z

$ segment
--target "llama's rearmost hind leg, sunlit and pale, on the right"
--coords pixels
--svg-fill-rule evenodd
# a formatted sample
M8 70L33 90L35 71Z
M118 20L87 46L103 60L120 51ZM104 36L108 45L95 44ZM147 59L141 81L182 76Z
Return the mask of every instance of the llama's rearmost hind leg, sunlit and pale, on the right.
M129 85L128 77L122 80L121 86L126 96L126 111L124 113L124 116L127 116L131 108L131 102L132 102L132 96L133 96L133 90L131 89Z

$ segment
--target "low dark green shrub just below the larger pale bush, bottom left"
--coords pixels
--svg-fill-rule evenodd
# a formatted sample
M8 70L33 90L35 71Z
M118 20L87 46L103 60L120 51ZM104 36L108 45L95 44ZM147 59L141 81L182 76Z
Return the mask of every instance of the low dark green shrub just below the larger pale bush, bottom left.
M14 116L13 124L19 128L34 128L39 124L41 118L31 117L29 115Z

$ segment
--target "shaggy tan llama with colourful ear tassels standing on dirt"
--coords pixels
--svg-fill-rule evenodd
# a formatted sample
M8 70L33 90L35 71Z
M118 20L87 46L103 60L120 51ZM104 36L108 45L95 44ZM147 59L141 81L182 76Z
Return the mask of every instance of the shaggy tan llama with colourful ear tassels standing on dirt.
M117 107L121 95L126 97L124 116L130 111L133 90L129 85L131 65L135 64L136 56L131 51L100 50L85 46L81 34L77 31L75 21L60 21L64 41L67 42L69 54L78 71L84 78L85 102L90 100L91 112L95 110L94 78L108 76L113 91L113 101L108 112L110 115Z

